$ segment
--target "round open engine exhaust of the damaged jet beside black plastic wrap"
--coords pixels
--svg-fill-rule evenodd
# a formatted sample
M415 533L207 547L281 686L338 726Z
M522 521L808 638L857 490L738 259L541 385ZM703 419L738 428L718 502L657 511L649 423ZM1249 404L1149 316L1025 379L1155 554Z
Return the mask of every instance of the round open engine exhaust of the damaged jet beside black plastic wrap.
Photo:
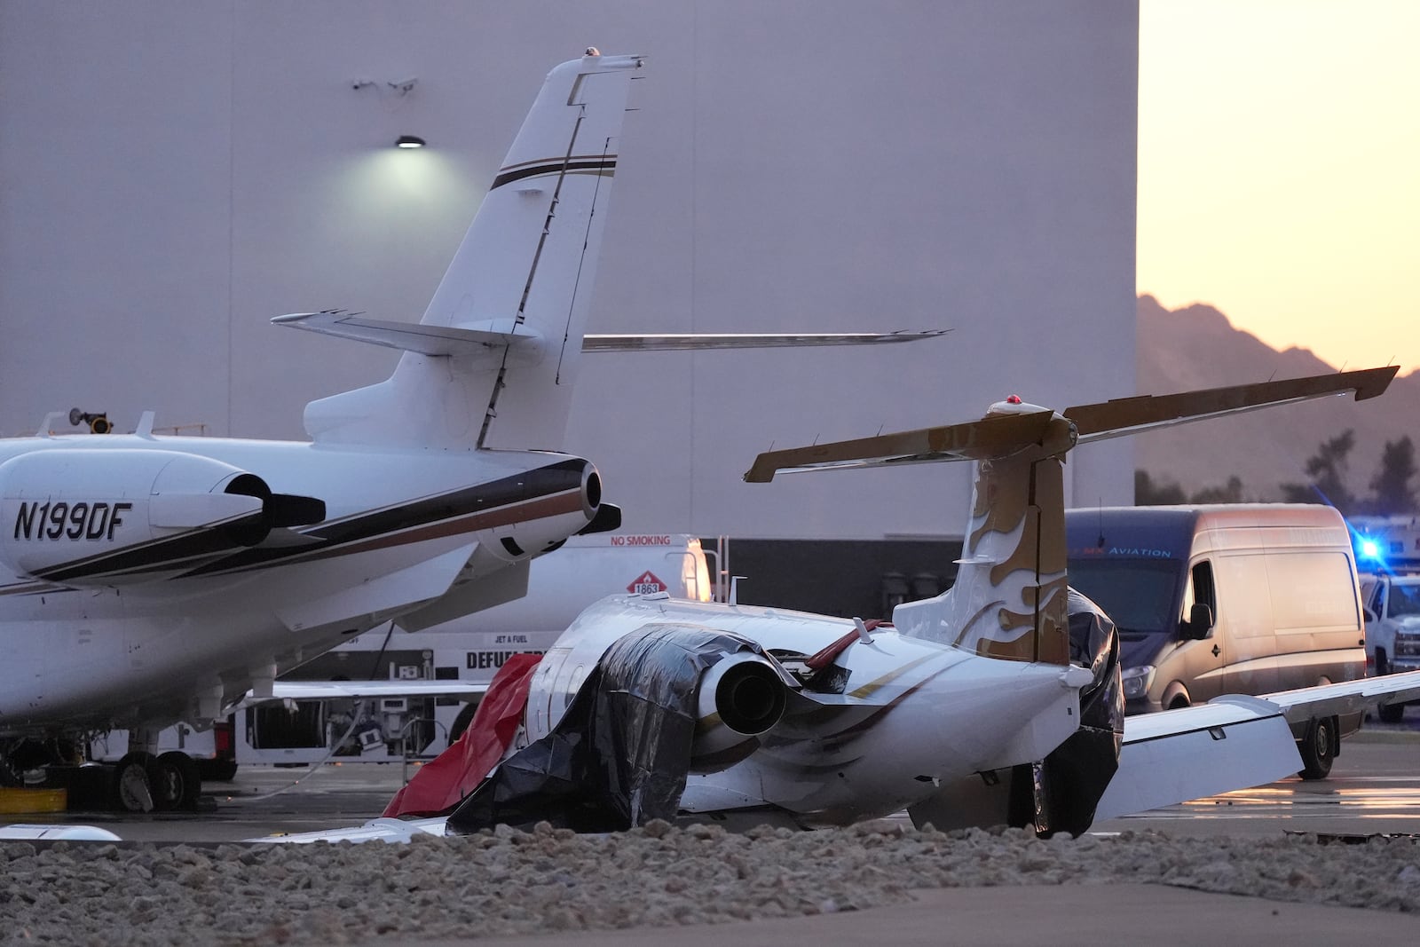
M740 652L716 662L700 681L692 768L709 772L753 752L755 737L780 723L787 706L784 672L768 657Z

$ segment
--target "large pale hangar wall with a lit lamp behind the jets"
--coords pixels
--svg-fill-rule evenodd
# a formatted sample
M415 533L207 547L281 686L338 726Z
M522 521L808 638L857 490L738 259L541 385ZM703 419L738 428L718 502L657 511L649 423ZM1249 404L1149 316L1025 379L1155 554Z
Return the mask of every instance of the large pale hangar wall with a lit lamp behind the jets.
M77 405L302 436L305 402L395 354L268 318L416 319L588 44L648 57L591 331L953 329L588 356L567 447L629 528L960 534L964 464L740 474L1010 393L1135 392L1135 0L0 0L0 433ZM1127 440L1068 471L1076 504L1132 500Z

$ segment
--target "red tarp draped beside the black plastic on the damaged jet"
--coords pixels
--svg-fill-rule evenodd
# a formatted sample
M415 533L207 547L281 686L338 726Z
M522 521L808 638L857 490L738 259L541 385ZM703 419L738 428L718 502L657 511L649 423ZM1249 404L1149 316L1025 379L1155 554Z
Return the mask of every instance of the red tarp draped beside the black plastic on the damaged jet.
M513 655L504 662L483 696L463 735L419 768L395 794L383 815L437 815L459 805L483 782L513 743L541 655Z

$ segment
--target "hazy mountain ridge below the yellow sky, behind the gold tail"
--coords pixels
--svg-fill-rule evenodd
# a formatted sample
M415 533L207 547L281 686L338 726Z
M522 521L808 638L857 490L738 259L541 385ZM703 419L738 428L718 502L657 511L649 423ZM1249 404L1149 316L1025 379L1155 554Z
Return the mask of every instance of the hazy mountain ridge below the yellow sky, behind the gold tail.
M1140 395L1338 371L1311 349L1271 348L1207 304L1167 310L1142 294L1136 311L1135 376ZM1420 372L1397 376L1384 395L1365 402L1328 398L1136 434L1135 467L1147 471L1156 484L1177 483L1187 494L1237 476L1244 498L1281 500L1281 484L1305 483L1308 457L1348 427L1356 432L1356 447L1346 486L1353 494L1367 496L1387 440L1409 434L1420 446Z

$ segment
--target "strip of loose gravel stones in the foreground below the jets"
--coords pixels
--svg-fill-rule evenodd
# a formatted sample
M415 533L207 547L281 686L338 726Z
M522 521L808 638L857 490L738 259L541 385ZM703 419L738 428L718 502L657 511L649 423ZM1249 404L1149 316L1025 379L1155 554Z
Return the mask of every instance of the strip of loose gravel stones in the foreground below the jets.
M544 823L408 845L6 842L0 879L4 943L342 944L818 914L990 885L1162 883L1417 912L1420 845Z

